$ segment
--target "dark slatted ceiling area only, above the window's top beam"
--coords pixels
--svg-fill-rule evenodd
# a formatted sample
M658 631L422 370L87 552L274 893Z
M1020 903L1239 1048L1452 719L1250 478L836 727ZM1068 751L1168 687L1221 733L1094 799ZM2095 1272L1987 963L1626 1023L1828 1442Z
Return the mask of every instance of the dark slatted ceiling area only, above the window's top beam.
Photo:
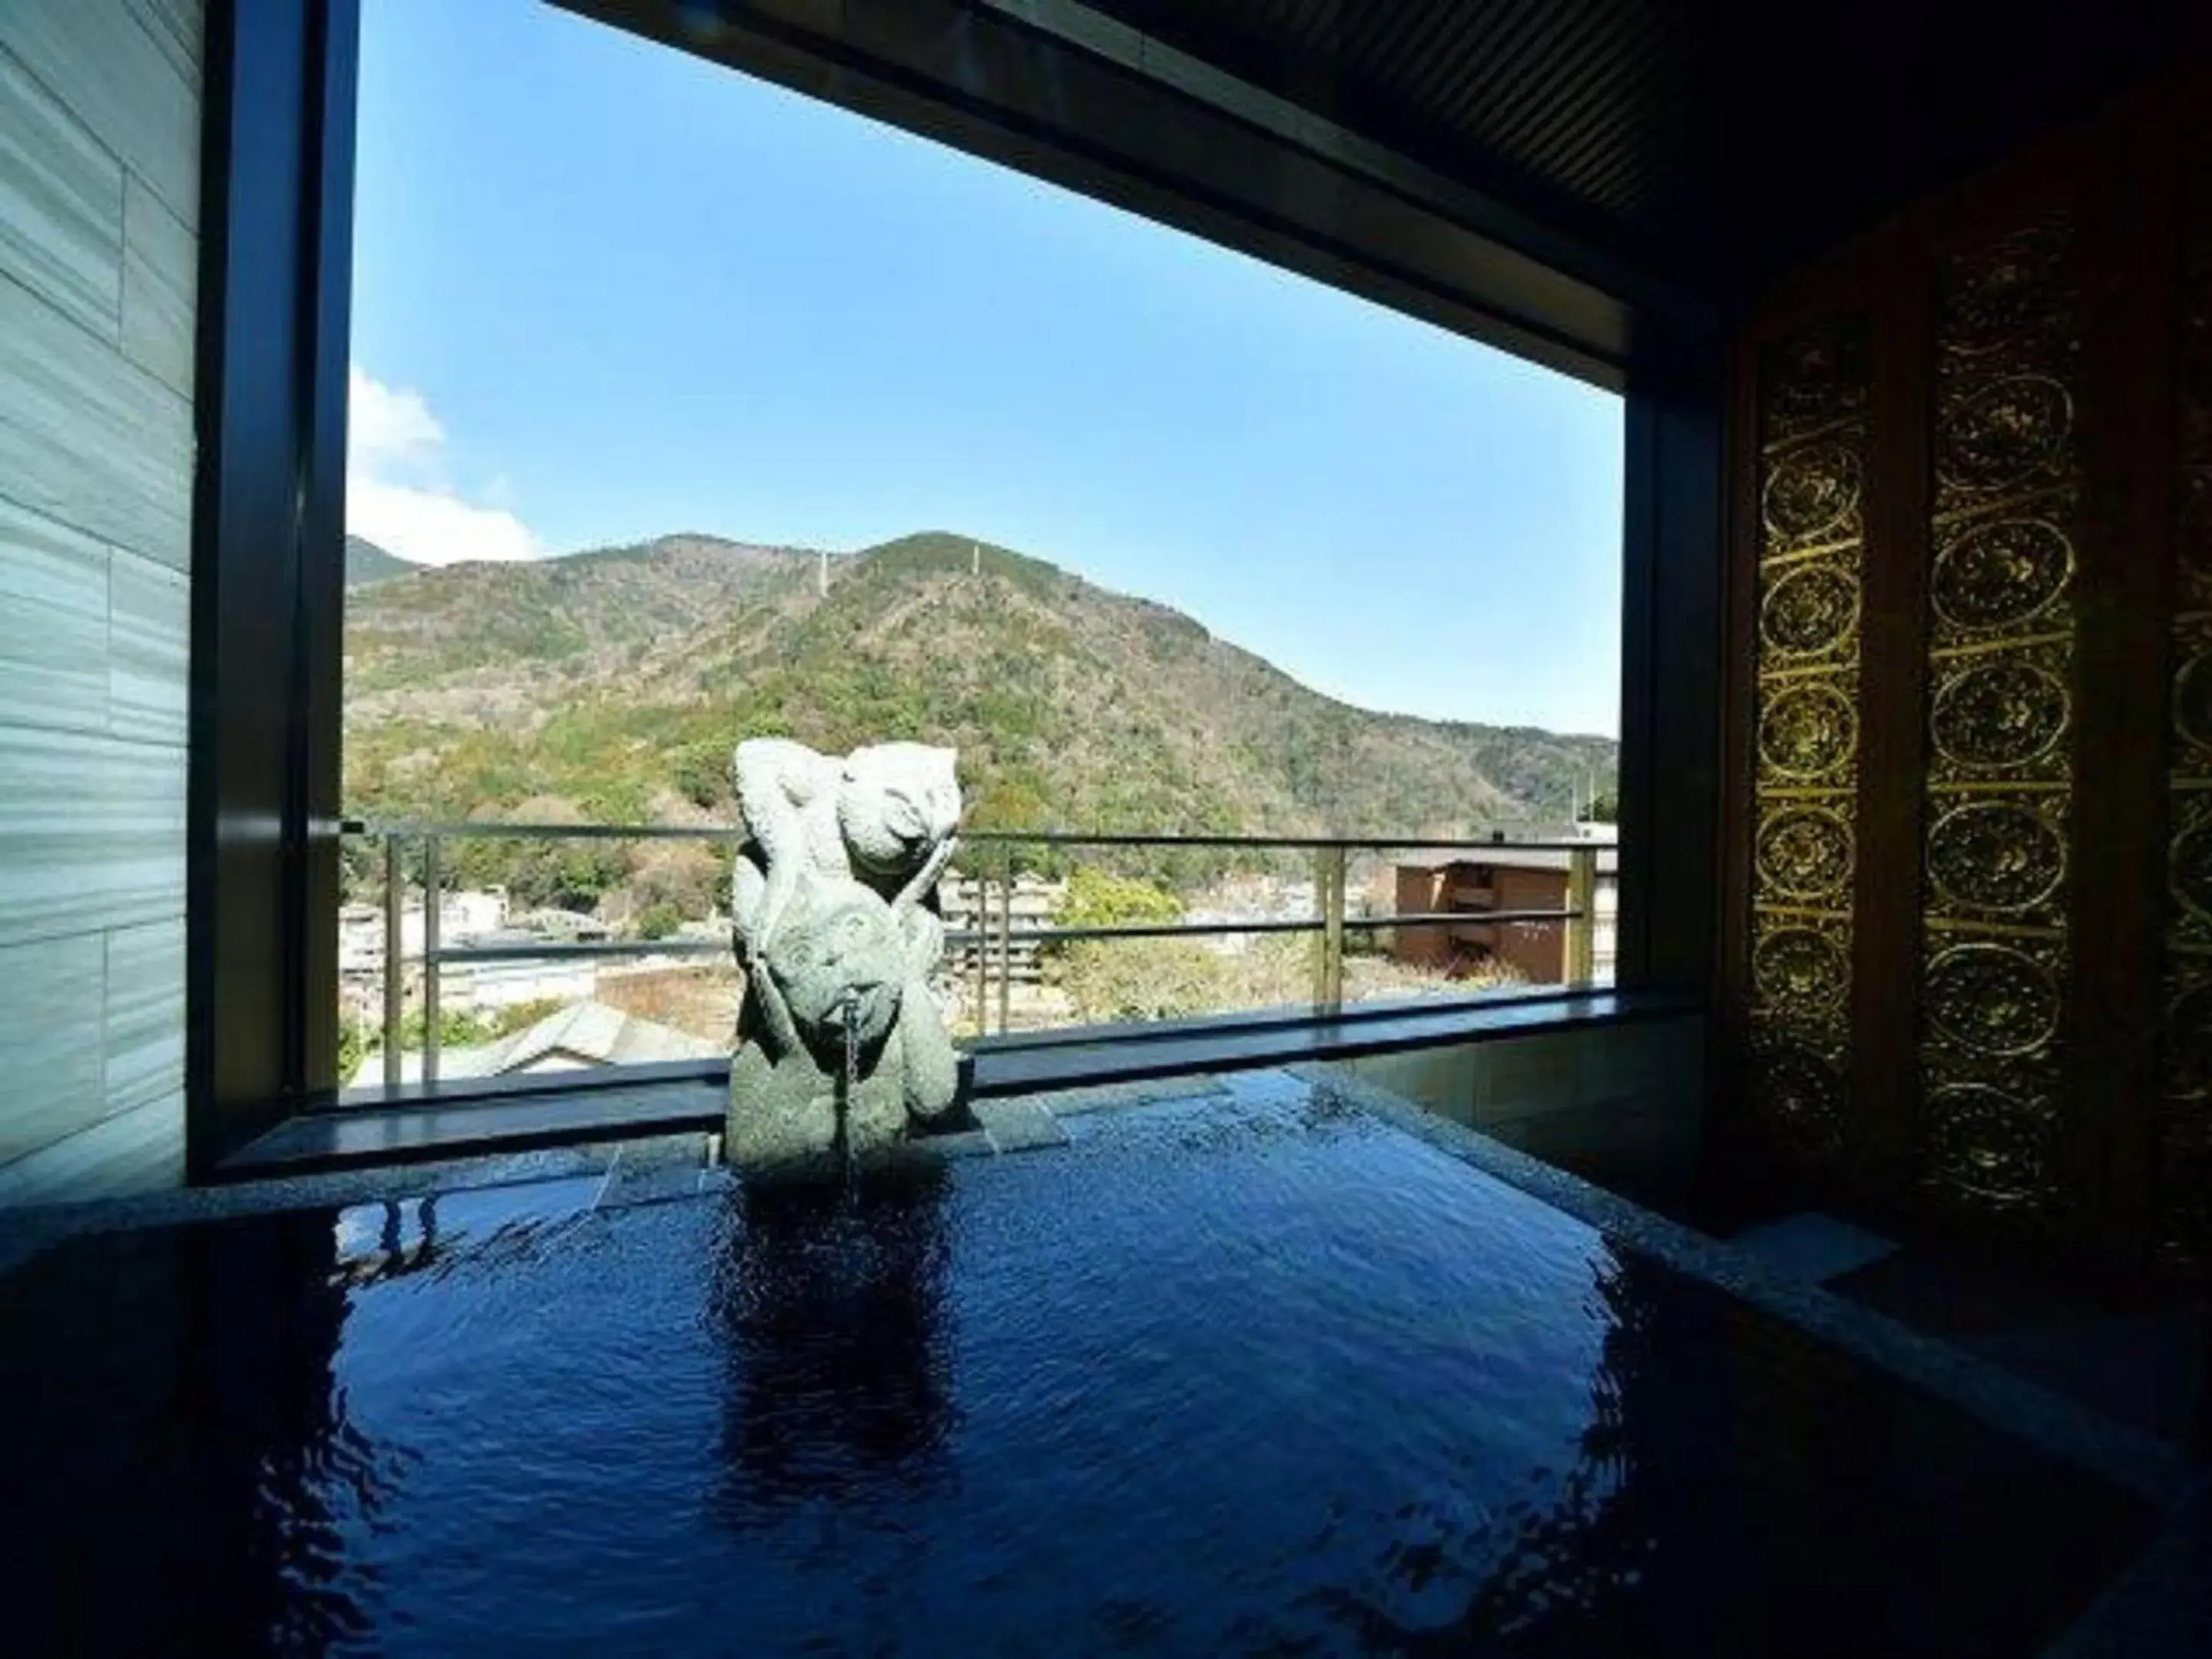
M1717 296L2205 44L2168 0L1091 4Z

